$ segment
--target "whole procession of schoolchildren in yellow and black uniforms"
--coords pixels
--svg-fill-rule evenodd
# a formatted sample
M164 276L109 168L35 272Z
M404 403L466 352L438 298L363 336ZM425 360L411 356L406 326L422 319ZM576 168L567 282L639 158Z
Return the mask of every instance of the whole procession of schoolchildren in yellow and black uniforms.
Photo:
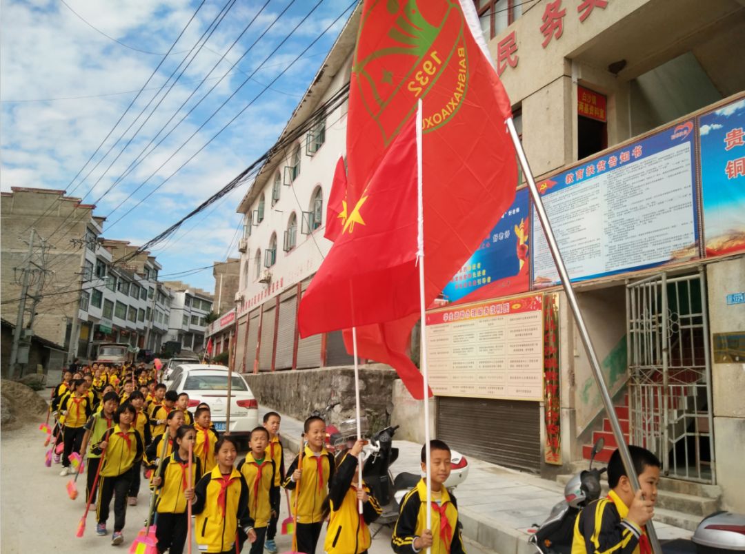
M154 377L143 368L94 364L80 373L66 372L54 390L55 433L64 444L61 474L69 474L73 452L86 453L86 500L96 502L98 535L107 535L113 499L112 544L124 542L127 505L136 504L142 466L157 494L159 553L183 552L191 503L201 552L240 553L250 541L250 554L263 550L275 554L281 487L291 491L297 514L294 551L314 554L323 523L328 521L324 553L367 553L372 543L369 525L381 514L381 507L370 488L358 481L363 441L349 442L335 456L326 448L326 423L311 416L305 420L302 451L285 473L280 416L269 412L263 427L250 433L250 451L236 464L235 439L218 436L209 406L200 404L192 415L188 395L166 392ZM425 549L433 554L465 553L457 501L444 486L451 452L437 439L430 447L429 465L424 447L421 456L422 472L431 475L431 529L425 524L427 491L422 478L402 500L391 547L399 554ZM641 491L633 493L620 456L614 453L608 468L612 490L577 518L573 554L650 552L644 525L653 516L660 463L647 450L631 448Z

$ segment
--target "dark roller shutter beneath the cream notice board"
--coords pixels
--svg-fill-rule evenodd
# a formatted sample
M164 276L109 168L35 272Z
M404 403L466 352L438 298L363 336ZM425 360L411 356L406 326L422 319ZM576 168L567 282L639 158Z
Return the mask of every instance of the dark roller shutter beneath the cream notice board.
M437 398L438 439L466 456L509 468L539 473L540 423L538 402Z

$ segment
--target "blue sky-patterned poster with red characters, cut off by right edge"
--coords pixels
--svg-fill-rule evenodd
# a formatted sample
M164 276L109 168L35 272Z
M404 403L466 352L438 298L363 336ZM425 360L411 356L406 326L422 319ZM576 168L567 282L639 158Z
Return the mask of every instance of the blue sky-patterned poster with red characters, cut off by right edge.
M706 255L745 251L745 98L699 118Z

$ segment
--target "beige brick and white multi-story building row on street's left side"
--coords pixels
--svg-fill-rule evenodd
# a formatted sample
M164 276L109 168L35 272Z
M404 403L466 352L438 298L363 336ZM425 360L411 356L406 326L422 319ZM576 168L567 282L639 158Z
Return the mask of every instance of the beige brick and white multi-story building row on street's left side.
M142 252L122 264L120 258L137 246L101 237L104 218L64 191L12 188L2 193L1 206L2 298L13 300L2 305L4 319L16 319L20 284L13 272L25 264L23 238L34 229L35 244L43 250L33 260L37 280L27 299L28 308L33 296L39 298L35 334L64 345L71 359L95 359L101 342L128 343L132 351L159 349L167 323L151 318L161 269L153 256ZM158 310L167 322L165 302Z

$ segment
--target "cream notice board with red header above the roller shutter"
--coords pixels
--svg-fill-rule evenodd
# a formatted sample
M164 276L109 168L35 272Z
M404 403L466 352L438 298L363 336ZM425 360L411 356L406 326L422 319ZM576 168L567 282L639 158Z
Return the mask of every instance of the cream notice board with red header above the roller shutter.
M426 322L434 395L542 400L542 295L430 311Z

